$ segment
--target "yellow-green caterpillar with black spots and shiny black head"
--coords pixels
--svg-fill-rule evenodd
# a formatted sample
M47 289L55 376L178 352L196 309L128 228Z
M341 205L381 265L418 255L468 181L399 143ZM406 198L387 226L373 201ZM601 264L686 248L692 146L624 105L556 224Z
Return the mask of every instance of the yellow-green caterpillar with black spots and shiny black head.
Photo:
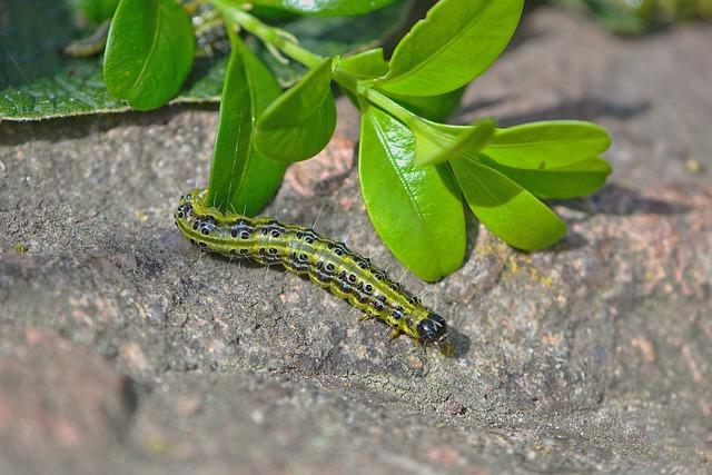
M365 318L380 319L390 327L392 339L405 334L446 355L452 353L443 317L372 266L367 257L309 228L268 217L222 214L208 207L206 197L207 190L195 189L180 197L174 212L178 229L201 250L281 266L343 298Z

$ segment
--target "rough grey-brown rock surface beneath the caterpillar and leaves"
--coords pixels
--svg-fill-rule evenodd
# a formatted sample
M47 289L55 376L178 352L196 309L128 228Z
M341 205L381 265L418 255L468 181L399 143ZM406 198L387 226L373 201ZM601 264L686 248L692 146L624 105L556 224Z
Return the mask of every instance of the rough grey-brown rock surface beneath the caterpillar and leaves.
M462 356L387 343L294 276L175 234L216 113L0 123L0 473L712 471L712 28L641 40L542 8L456 117L613 133L571 232L516 253L472 221L444 281L405 285ZM403 268L365 215L357 118L266 211ZM16 248L27 247L27 251Z

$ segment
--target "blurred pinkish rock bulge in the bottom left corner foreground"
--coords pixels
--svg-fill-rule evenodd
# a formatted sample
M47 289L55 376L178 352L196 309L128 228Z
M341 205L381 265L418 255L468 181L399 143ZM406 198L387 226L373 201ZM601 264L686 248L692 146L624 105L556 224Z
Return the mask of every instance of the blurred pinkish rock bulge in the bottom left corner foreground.
M37 327L0 327L3 473L100 471L137 400L132 382L98 355Z

